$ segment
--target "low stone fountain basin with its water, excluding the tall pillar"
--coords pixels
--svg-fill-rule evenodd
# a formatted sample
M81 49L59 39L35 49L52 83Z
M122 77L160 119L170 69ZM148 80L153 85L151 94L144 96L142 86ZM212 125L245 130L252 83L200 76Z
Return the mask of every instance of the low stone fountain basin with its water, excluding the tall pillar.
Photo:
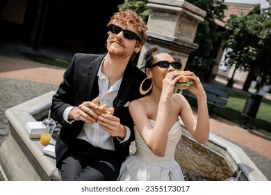
M0 146L2 180L61 180L54 157L42 153L40 139L29 138L25 127L27 122L47 117L54 93L45 93L5 111L10 132ZM213 133L203 145L184 128L175 158L186 180L226 180L240 170L240 180L267 180L241 148Z

